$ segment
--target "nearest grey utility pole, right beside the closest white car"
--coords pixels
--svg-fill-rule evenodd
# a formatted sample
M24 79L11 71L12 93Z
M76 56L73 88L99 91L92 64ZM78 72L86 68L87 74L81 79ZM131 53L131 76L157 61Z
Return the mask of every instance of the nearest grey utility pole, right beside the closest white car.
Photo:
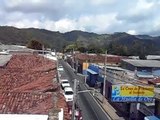
M77 97L77 79L74 79L73 102L72 102L72 118L71 118L71 120L75 120L76 97Z

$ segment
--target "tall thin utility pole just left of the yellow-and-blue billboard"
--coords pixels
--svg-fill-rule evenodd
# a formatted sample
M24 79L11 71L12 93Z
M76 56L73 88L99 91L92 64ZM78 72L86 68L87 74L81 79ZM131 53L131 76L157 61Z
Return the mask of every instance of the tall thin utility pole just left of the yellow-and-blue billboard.
M107 50L105 52L105 61L104 61L104 80L103 80L103 98L102 98L102 102L104 102L105 94L106 94L106 62L107 62Z

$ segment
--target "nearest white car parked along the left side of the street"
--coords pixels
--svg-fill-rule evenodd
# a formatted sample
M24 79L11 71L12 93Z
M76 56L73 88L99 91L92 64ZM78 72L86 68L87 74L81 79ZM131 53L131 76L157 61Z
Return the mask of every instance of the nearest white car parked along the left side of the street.
M71 87L64 88L64 97L66 102L73 101L73 90Z

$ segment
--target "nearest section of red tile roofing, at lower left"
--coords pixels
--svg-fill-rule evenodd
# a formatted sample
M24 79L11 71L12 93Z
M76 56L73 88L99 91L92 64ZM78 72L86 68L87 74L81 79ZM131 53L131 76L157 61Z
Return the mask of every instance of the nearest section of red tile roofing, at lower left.
M48 114L53 107L51 94L1 92L1 114Z

